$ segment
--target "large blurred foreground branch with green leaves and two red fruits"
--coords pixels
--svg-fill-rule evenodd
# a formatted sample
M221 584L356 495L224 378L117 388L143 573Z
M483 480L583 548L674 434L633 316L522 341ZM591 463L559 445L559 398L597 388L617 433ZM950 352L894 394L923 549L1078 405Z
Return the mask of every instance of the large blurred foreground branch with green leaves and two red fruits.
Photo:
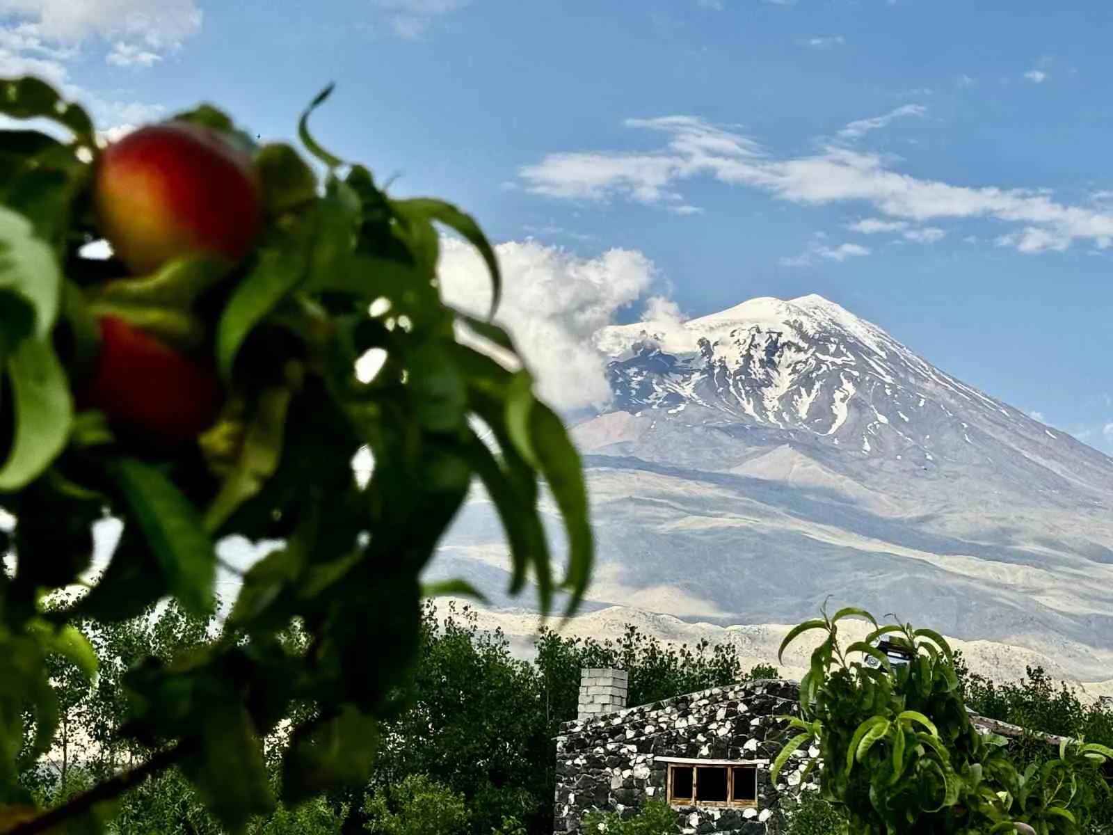
M166 597L210 611L224 537L283 547L244 573L219 640L129 672L121 733L174 752L139 773L179 766L232 832L275 804L260 739L292 705L316 718L289 733L283 802L365 779L416 652L420 576L474 482L505 528L511 592L532 581L544 613L583 596L577 450L511 336L441 297L442 228L485 259L492 315L493 248L454 206L394 198L325 150L308 118L329 92L302 115L307 159L209 105L101 147L47 82L0 81L0 114L58 128L0 131L0 505L17 519L0 534L14 558L0 571L0 832L98 826L86 802L29 813L17 780L55 738L47 659L95 675L76 619ZM112 257L82 255L105 238ZM382 364L362 380L370 352ZM569 543L559 579L543 487ZM48 607L89 572L106 512L124 522L107 568ZM295 623L297 650L279 639Z

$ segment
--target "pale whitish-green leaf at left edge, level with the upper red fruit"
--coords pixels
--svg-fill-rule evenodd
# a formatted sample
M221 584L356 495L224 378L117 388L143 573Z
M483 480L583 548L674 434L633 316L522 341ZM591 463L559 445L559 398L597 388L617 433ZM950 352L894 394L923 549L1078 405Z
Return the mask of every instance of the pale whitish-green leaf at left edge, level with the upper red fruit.
M62 274L50 247L31 222L0 206L0 298L12 293L35 311L35 334L50 335L61 304Z

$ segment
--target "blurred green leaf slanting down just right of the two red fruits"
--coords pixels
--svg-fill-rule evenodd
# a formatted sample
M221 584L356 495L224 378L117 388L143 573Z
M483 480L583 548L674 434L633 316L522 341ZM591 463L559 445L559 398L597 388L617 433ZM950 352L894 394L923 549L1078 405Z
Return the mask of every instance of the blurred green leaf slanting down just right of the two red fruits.
M220 314L216 333L217 367L225 379L232 376L236 356L248 334L305 278L317 219L316 213L302 218L279 246L263 249L255 268L236 285Z

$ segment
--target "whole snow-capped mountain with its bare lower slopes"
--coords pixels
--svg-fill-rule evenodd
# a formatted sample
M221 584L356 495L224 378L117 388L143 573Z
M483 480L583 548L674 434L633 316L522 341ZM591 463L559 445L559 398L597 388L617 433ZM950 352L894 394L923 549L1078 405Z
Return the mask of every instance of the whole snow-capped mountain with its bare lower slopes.
M831 596L1113 685L1106 455L820 296L612 326L597 345L613 403L573 430L597 609L787 623ZM482 499L444 553L446 573L498 587Z

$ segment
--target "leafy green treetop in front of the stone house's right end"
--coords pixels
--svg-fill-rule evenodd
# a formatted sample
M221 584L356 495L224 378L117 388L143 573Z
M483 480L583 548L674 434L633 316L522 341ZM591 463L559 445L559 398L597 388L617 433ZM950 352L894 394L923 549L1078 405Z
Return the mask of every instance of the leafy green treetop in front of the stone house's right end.
M844 648L838 629L848 618L873 629ZM800 681L798 715L784 717L797 733L774 763L775 782L796 750L818 744L823 796L860 835L1085 831L1089 811L1076 802L1077 777L1113 758L1113 749L1062 739L1056 758L1018 773L1006 755L1008 740L971 720L954 654L938 632L878 626L861 609L824 610L789 631L781 657L809 631L825 635ZM889 652L879 648L883 639Z

